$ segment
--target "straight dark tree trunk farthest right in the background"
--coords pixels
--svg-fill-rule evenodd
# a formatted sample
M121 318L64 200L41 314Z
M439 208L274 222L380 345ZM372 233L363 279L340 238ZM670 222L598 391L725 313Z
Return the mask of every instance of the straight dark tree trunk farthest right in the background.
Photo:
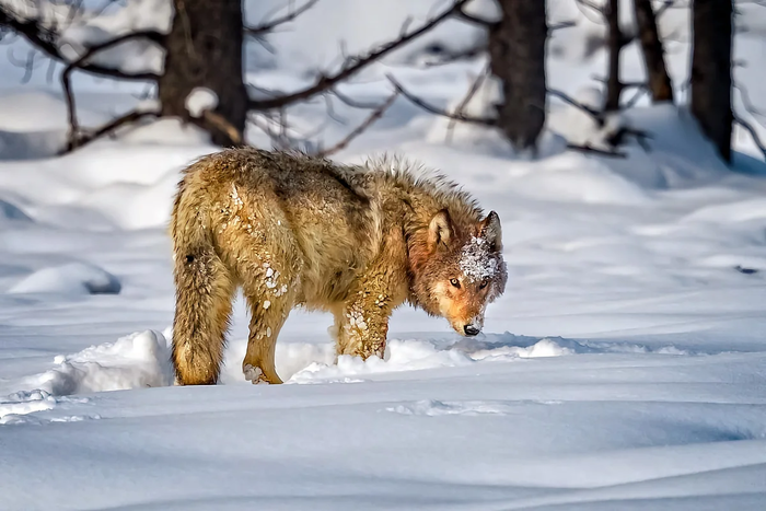
M692 114L724 161L731 161L732 1L695 0Z

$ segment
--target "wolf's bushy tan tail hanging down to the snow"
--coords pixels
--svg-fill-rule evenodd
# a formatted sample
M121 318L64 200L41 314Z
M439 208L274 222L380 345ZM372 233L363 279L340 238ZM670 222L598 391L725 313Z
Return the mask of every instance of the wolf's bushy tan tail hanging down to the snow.
M216 384L235 282L216 252L204 191L187 172L173 206L173 365L181 385ZM195 189L196 188L196 189Z

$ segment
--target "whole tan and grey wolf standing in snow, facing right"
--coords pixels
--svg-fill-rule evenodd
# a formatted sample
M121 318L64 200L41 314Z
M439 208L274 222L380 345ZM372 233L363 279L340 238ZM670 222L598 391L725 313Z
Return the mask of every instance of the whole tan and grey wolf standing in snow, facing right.
M332 312L337 353L363 359L383 357L388 317L405 302L479 334L506 288L500 219L418 170L253 148L186 167L171 218L176 382L217 383L237 288L253 383L281 383L275 344L295 306Z

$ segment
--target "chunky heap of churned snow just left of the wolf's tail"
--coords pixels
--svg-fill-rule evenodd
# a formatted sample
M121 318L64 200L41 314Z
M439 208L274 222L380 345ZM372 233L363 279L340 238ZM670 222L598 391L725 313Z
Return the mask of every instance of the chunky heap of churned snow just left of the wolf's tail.
M55 368L31 376L25 384L51 396L167 386L173 383L170 357L161 333L138 332L79 353L58 356Z

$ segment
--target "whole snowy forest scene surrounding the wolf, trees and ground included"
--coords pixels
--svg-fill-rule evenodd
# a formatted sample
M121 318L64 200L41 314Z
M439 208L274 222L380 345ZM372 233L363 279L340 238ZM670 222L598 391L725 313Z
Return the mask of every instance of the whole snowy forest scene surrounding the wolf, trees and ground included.
M761 0L0 0L0 509L762 509L764 62ZM253 386L240 300L172 386L172 195L237 144L497 210L484 336L294 311Z

